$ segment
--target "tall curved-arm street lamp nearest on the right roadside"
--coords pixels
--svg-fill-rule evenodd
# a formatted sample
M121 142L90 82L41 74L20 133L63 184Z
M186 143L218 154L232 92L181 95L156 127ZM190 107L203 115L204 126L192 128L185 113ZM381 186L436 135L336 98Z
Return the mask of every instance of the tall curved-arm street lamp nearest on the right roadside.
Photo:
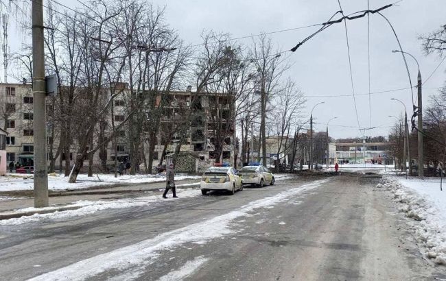
M392 50L392 53L406 53L405 51L399 51L399 50ZM418 116L418 176L419 178L424 177L424 154L423 154L423 96L422 96L422 83L421 83L421 72L420 72L420 64L418 63L418 60L414 56L412 56L410 53L406 53L410 57L412 57L415 62L416 66L418 66L418 77L417 81L418 84L416 88L418 88L418 107L416 109L416 115Z

